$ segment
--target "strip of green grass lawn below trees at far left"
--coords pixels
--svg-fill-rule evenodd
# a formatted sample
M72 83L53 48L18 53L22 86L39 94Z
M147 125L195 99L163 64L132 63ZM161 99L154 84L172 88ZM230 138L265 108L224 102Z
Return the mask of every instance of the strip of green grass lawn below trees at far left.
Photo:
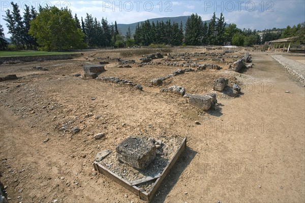
M0 51L0 57L9 56L38 56L55 54L73 54L75 52L47 52L47 51Z

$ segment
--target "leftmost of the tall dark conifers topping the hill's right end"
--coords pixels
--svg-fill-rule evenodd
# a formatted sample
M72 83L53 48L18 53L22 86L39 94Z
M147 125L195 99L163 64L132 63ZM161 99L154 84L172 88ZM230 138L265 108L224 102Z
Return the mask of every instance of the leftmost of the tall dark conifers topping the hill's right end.
M203 22L197 14L192 14L186 22L185 41L187 45L201 45L203 41Z

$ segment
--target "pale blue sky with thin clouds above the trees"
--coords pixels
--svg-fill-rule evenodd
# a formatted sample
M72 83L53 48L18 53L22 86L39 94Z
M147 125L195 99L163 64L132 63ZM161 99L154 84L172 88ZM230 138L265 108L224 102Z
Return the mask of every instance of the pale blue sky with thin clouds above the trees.
M217 17L223 12L226 22L235 23L239 28L263 30L265 28L284 28L305 21L305 1L14 1L23 12L24 5L37 7L51 5L68 7L80 18L86 13L98 20L107 18L108 22L134 23L150 18L174 17L197 13L203 20L209 20L214 12ZM0 24L8 29L3 15L11 9L10 1L1 1Z

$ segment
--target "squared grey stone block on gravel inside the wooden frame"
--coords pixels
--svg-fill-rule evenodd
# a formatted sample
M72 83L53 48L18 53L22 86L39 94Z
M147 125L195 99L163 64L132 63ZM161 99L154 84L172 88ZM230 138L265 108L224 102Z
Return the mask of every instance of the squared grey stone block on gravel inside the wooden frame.
M156 158L156 147L144 138L130 137L116 147L116 157L119 161L143 170Z

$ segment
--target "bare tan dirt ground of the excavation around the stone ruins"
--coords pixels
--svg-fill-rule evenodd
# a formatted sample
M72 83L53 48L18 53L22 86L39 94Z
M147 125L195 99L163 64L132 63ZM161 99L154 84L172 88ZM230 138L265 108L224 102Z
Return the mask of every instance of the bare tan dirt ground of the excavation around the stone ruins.
M10 202L144 202L93 171L99 151L132 134L188 139L152 202L304 202L304 86L271 58L274 53L251 54L253 68L242 73L229 71L226 62L232 58L225 58L204 62L221 70L165 81L162 87L180 85L196 94L212 92L218 77L241 86L236 98L218 92L220 110L208 112L190 106L188 98L149 86L151 79L178 67L120 69L111 62L99 76L128 79L144 91L73 76L83 74L84 64L98 64L94 58L120 57L118 52L98 52L88 60L1 65L1 77L20 77L0 83L0 171ZM49 71L37 71L36 65ZM63 125L68 130L61 131ZM69 130L74 126L79 133ZM98 132L105 137L95 140Z

